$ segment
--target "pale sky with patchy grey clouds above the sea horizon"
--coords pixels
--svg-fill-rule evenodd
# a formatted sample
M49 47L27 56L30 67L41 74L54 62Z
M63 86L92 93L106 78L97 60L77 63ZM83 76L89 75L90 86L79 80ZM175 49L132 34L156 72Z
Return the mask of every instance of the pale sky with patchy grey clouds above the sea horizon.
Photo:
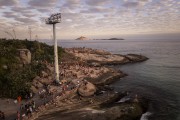
M180 38L180 0L0 0L0 38Z

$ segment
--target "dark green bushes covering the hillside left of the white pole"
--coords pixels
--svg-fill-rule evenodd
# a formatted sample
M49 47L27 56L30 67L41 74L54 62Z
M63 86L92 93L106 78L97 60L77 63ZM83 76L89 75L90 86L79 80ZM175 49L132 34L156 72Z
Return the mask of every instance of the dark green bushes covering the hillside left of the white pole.
M30 64L22 65L17 49L30 50ZM58 50L62 56L64 50ZM0 97L24 97L29 93L33 78L46 69L45 61L54 61L53 54L53 46L38 41L0 39Z

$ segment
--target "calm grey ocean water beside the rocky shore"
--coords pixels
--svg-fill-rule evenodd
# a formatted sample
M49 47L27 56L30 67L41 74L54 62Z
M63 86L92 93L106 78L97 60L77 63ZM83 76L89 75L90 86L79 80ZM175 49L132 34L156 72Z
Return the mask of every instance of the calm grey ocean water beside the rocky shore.
M62 47L88 47L115 54L142 54L149 60L116 65L127 73L112 84L117 91L130 91L148 99L146 120L180 120L180 40L61 40Z

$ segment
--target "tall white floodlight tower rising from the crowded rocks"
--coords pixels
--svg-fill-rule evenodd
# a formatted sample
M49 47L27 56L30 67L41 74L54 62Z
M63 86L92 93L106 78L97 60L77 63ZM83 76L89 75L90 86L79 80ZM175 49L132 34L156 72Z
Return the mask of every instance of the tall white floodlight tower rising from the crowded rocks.
M55 65L55 81L59 84L59 65L58 65L58 48L56 39L56 23L61 22L61 13L52 14L46 20L46 24L53 25L53 40L54 40L54 65Z

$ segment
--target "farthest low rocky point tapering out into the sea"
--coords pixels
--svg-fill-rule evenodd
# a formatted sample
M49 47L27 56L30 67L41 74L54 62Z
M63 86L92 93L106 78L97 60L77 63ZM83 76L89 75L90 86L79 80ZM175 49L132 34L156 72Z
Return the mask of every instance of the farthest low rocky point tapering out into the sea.
M88 48L72 48L66 49L67 52L73 54L74 56L80 58L89 63L92 66L101 65L119 65L125 63L135 63L142 62L148 58L143 55L137 54L111 54L103 50L94 50Z

